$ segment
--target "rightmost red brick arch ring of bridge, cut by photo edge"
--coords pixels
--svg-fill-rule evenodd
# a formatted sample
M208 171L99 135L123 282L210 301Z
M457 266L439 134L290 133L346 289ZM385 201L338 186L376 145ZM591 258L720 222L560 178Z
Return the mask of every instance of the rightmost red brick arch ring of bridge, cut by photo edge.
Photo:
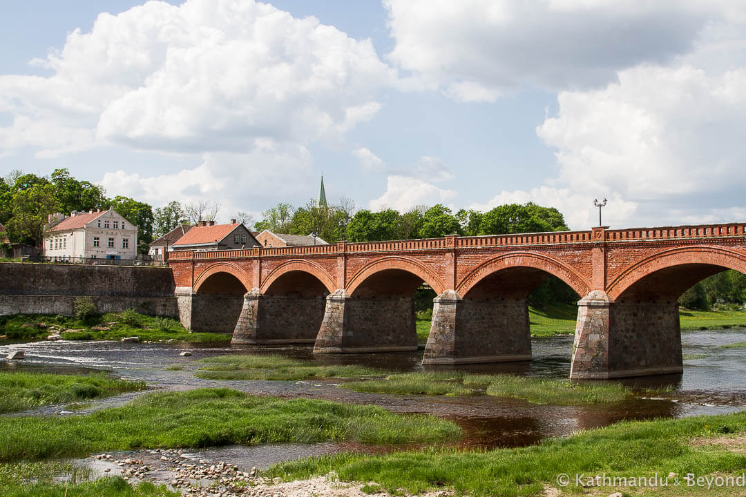
M623 270L609 285L606 294L616 300L624 291L658 270L702 264L746 273L746 254L722 247L680 247L646 257Z

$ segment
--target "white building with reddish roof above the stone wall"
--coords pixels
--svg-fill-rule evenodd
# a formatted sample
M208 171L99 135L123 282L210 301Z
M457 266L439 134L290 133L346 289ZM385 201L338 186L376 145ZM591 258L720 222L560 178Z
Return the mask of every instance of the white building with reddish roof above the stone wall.
M68 259L137 259L137 227L114 209L49 215L44 256Z

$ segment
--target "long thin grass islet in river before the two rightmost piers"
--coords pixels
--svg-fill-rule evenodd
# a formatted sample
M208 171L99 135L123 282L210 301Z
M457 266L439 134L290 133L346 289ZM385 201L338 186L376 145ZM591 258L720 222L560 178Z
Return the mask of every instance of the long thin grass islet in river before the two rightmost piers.
M565 379L513 375L474 375L458 371L398 373L385 379L347 382L341 387L367 393L421 395L492 395L535 404L580 405L618 402L632 390L615 382L571 382Z

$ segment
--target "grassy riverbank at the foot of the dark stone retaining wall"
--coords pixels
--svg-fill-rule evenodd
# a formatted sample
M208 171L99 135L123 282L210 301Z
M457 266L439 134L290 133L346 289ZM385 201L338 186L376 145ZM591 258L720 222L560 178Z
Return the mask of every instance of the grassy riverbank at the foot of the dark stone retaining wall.
M120 340L137 336L140 341L229 342L225 333L192 333L170 317L147 316L135 311L95 314L85 319L38 314L0 317L2 341L40 340L59 333L63 340Z

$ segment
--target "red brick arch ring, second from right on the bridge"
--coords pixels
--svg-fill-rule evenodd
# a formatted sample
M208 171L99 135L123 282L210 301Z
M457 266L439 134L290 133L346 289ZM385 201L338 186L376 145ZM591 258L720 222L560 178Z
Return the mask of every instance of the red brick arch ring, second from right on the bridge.
M456 290L463 297L487 276L510 268L533 268L550 273L570 285L580 297L585 297L590 289L589 282L564 262L540 253L511 252L493 257L478 265L461 280Z

